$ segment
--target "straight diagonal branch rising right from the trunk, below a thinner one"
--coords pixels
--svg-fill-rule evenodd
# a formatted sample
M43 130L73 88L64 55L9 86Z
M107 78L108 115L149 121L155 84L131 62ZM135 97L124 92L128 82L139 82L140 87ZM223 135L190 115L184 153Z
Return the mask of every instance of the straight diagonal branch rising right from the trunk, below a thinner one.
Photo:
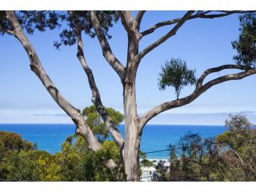
M181 18L181 20L174 26L172 30L170 30L167 34L159 38L156 42L152 43L150 46L146 47L142 52L139 54L139 58L143 58L147 53L151 50L154 50L157 46L161 45L162 42L165 42L171 36L174 36L178 29L186 22L187 18L190 17L191 14L194 13L194 10L187 11L186 14Z

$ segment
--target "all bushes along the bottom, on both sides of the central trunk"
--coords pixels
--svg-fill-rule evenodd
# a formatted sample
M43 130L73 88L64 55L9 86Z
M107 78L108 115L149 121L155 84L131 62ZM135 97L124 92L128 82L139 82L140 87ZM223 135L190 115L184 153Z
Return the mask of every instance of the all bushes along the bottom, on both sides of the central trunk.
M90 112L90 113L89 113ZM94 114L94 107L84 110ZM114 111L113 111L114 112ZM97 120L97 113L88 122ZM119 116L119 120L122 116ZM94 126L101 125L94 122ZM117 122L118 123L118 122ZM154 181L256 181L256 130L243 115L226 121L227 130L216 138L202 138L188 133L177 145L170 145L170 166L160 161ZM101 130L103 134L99 134ZM103 166L109 159L121 165L117 146L108 138L104 127L95 129L102 150L89 150L81 136L70 136L62 151L49 154L37 150L31 142L15 133L0 131L0 178L37 181L126 181L122 166L110 170ZM141 152L141 166L153 166Z

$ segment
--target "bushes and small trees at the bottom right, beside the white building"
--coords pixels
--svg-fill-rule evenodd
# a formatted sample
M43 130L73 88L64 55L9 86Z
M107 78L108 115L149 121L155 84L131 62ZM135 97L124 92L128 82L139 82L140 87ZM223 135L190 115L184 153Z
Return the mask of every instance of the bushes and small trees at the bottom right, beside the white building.
M170 166L159 162L154 181L256 181L256 130L239 114L216 138L188 133L170 145Z

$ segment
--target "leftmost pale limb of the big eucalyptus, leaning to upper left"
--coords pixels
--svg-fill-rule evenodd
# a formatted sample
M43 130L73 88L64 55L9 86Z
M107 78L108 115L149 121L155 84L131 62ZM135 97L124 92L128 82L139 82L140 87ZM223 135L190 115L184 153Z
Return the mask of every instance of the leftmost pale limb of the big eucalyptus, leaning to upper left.
M46 71L42 67L41 61L38 58L36 50L34 50L34 47L26 37L26 34L24 34L22 27L15 17L14 11L6 11L6 18L10 22L10 25L14 28L14 37L18 38L18 41L21 42L22 46L26 50L26 54L30 59L31 70L34 71L34 74L38 76L51 97L54 98L55 102L57 102L58 106L60 106L62 110L64 110L75 123L77 126L76 134L80 134L83 138L86 139L86 142L88 142L88 146L91 150L101 150L102 146L94 137L90 127L86 124L80 110L72 106L70 102L68 102L66 98L62 96L57 87L49 78L48 74L46 74ZM110 165L114 166L113 162L110 162Z

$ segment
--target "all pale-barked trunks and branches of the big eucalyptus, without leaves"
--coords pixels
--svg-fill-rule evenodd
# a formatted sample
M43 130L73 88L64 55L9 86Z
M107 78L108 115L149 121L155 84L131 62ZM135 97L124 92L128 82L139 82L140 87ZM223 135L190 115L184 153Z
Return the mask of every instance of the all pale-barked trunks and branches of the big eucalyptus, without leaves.
M114 141L116 142L118 149L120 150L120 154L122 156L122 166L124 166L125 168L127 180L129 181L139 181L138 160L142 130L151 118L154 118L156 115L162 113L165 110L170 110L178 106L184 106L190 102L193 102L194 99L198 98L202 93L210 89L210 87L218 85L219 83L230 80L238 80L252 74L256 74L256 69L251 68L237 74L226 74L221 76L220 78L214 78L210 82L206 82L205 84L203 84L203 81L209 74L228 69L243 70L242 66L238 65L223 65L208 69L204 73L202 73L200 78L198 78L197 85L192 94L188 95L185 98L162 103L161 105L155 106L152 110L146 112L146 114L142 115L142 117L138 117L136 103L136 74L139 63L146 54L150 53L150 51L154 50L157 46L160 46L163 42L166 42L168 38L174 36L178 32L178 30L186 23L187 20L193 18L221 18L230 14L244 13L247 11L219 11L221 14L210 14L211 11L202 11L200 13L194 14L194 11L187 11L182 18L176 18L166 22L159 22L156 25L152 26L150 29L145 30L141 33L139 31L140 24L142 22L142 17L145 12L146 11L138 11L136 17L132 18L130 11L118 11L118 14L120 15L122 21L122 25L124 26L128 35L127 61L126 67L124 67L122 63L119 62L115 55L112 53L106 36L103 33L100 23L98 22L97 15L94 13L94 11L89 11L90 22L94 27L95 33L98 37L98 41L102 47L102 54L106 58L106 61L109 62L110 66L116 71L122 82L126 134L124 141L116 127L111 124L111 119L104 110L98 88L96 86L96 83L94 82L93 73L90 70L90 67L87 65L86 59L84 58L81 31L77 30L78 59L86 72L90 84L90 89L92 90L92 102L94 102L94 106L98 110L99 114L101 114L104 122L106 123L106 126L110 130L110 134L112 134ZM6 31L6 33L14 34L14 36L18 38L20 42L22 42L22 46L25 48L30 58L31 69L34 71L35 74L38 75L38 78L40 78L44 86L46 86L46 89L49 91L49 93L58 103L58 105L66 111L66 114L70 115L70 118L72 118L74 123L78 126L77 133L82 134L86 141L89 142L90 148L92 150L101 149L100 144L97 142L96 138L94 138L90 127L86 125L86 122L82 117L80 111L76 110L74 106L71 106L70 103L62 97L57 88L54 86L53 82L50 81L50 78L47 76L46 72L42 68L41 62L39 61L38 55L36 54L33 46L26 38L26 35L23 33L17 20L15 19L14 13L12 11L7 11L6 13L10 23L14 27L13 31ZM142 52L139 53L139 41L144 36L153 33L154 30L157 30L162 26L171 26L173 24L175 24L174 27L171 28L167 34L164 34L162 38L159 38L157 41L151 43L150 46L147 46L144 50L142 50ZM107 166L112 168L115 166L114 162L111 161L107 162L107 164L109 164Z

